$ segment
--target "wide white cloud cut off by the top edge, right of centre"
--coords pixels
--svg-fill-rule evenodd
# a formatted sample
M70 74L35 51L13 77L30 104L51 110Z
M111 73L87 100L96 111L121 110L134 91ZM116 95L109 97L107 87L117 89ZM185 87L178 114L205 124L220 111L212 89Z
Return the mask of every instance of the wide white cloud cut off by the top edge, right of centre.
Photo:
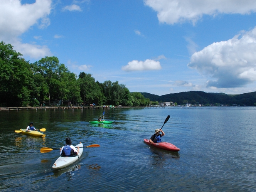
M167 24L186 21L195 24L203 15L256 11L255 0L144 0L144 3L157 12L159 22Z

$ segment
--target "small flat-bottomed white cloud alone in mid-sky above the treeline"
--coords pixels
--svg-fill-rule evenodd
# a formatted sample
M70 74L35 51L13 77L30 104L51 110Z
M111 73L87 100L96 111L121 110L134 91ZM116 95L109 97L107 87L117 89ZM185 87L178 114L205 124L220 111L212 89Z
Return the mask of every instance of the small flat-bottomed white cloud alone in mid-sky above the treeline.
M133 60L128 62L126 66L122 67L123 71L148 71L162 69L159 61L146 59L145 61Z

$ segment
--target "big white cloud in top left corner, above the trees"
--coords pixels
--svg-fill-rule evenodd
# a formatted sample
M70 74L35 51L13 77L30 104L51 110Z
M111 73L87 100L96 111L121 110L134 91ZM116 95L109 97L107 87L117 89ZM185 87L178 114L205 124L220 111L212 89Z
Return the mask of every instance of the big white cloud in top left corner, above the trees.
M32 4L21 4L20 0L0 0L0 39L32 58L49 55L50 50L46 46L22 44L19 36L35 24L40 29L50 24L51 3L51 0L36 0Z

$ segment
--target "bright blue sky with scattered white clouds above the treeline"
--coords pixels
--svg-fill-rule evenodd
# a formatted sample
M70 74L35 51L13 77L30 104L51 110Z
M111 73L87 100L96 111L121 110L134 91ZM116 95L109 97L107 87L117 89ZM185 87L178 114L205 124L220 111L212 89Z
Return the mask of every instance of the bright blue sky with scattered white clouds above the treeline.
M0 41L131 91L256 91L255 0L0 0Z

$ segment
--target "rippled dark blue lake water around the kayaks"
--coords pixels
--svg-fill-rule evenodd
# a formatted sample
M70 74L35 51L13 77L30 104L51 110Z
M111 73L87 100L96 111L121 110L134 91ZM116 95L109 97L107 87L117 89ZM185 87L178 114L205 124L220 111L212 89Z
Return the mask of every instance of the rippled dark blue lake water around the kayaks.
M89 121L103 115L111 125ZM167 152L143 142L163 126ZM1 191L256 191L255 107L29 109L0 111ZM34 121L45 138L15 133ZM76 163L52 164L69 136Z

